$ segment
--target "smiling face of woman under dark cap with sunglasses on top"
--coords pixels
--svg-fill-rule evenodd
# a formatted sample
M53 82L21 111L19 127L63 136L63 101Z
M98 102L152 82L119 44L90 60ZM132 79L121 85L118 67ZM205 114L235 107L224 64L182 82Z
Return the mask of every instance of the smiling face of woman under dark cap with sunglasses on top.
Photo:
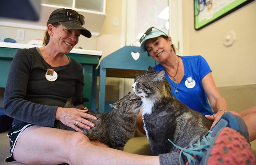
M51 36L60 53L68 54L71 49L78 43L81 30L73 30L65 28L62 25L53 27L53 35Z

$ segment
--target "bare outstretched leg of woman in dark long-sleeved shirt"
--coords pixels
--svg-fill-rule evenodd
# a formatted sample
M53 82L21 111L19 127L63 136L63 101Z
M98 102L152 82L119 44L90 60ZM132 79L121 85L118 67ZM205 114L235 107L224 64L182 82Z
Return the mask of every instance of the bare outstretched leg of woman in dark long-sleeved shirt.
M104 145L103 145L104 146ZM13 158L37 165L158 165L158 156L144 156L101 147L80 132L31 126L17 140Z

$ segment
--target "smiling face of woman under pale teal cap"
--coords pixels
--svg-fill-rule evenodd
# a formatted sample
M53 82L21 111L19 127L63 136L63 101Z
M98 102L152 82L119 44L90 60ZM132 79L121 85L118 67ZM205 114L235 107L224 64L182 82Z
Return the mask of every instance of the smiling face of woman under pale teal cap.
M163 37L151 38L146 41L145 47L149 55L159 63L168 59L171 53L171 38Z

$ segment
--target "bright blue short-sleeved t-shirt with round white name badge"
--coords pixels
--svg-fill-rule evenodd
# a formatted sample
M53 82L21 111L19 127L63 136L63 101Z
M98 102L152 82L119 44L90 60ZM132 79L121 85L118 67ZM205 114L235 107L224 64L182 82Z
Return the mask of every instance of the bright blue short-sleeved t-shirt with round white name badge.
M207 61L200 55L182 56L181 59L184 65L184 77L178 86L169 78L162 65L156 65L154 70L165 71L165 78L168 80L171 86L171 92L175 98L189 106L191 109L201 112L203 115L214 114L201 82L203 77L211 72ZM175 93L175 89L178 90L178 93Z

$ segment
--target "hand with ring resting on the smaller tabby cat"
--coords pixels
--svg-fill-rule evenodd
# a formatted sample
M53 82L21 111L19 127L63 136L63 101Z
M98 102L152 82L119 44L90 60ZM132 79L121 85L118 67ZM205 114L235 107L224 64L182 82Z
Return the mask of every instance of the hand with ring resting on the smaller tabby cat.
M81 128L84 128L86 130L91 129L91 127L94 127L94 123L86 120L86 119L92 119L97 120L97 118L93 115L87 114L88 109L85 108L85 110L80 110L76 108L61 108L58 107L56 111L56 120L61 121L63 124L73 128L77 132L83 132ZM81 127L81 128L79 128Z

